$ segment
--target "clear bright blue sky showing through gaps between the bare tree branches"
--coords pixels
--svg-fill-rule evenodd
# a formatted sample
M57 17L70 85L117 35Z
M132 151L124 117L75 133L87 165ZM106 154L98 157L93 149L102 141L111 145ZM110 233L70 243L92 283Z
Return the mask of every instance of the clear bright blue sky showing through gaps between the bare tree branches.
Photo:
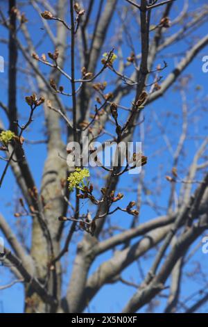
M200 1L200 3L205 3L206 1ZM181 2L180 2L181 3ZM175 5L176 6L176 5ZM191 1L191 7L196 8L196 1ZM180 8L180 7L179 7ZM40 38L40 33L43 33L40 29L42 27L42 22L37 17L37 15L31 11L28 12L28 9L25 8L26 15L29 18L29 30L31 31L31 35L33 37L34 42L36 43ZM177 13L177 7L175 7L175 12L173 11L173 19L175 17L175 13ZM134 23L133 23L134 24ZM108 32L109 37L111 38L110 45L108 42L106 42L105 47L103 49L103 52L109 51L114 45L114 42L116 42L116 38L112 36L112 31L117 30L119 26L119 19L118 17L115 17L112 25L110 26L110 30ZM198 37L202 38L205 33L207 33L207 23L204 24L199 31L197 32ZM132 26L132 29L134 29L135 26ZM134 40L137 40L137 34L132 35ZM7 33L6 29L3 29L3 27L0 27L0 38L6 38ZM162 72L162 75L166 77L168 72L171 72L173 67L177 64L178 61L180 61L181 56L180 54L184 52L184 49L187 49L187 42L180 42L179 45L173 45L171 48L168 48L164 51L164 58L166 62L168 63L168 68ZM49 41L44 42L40 46L39 53L42 54L42 52L50 51L51 44ZM116 46L115 46L115 52L116 52ZM178 56L176 58L173 58L172 56L169 56L169 54L178 53ZM123 56L128 56L130 53L130 49L127 45L123 45ZM190 106L190 108L197 108L197 106L202 106L204 104L205 100L207 99L207 79L208 74L205 74L202 72L202 56L208 55L208 48L203 49L201 53L196 57L196 59L189 65L187 70L184 72L184 76L187 76L189 78L189 88L187 88L187 102ZM3 45L0 49L0 56L3 56L5 58L6 62L6 71L4 73L0 73L0 81L1 81L1 88L0 88L0 99L2 102L7 103L7 88L8 88L8 78L7 78L7 63L8 63L8 51L6 49L6 46ZM162 58L157 59L157 63L161 63ZM19 66L21 67L21 64L24 64L24 59L19 56ZM117 65L117 64L116 64ZM66 67L67 69L67 67ZM42 67L42 71L46 74L48 72L47 67ZM76 72L78 74L78 71ZM21 74L19 72L19 89L18 89L18 108L19 108L19 118L22 122L26 120L28 117L28 106L24 102L24 96L31 93L31 86L28 85L28 79L26 79L26 76L24 74ZM101 77L102 80L105 80L105 78L108 79L108 82L110 84L111 81L114 81L114 76L112 74L109 74L109 76ZM65 81L63 80L63 83ZM175 84L177 85L177 84ZM200 85L201 89L196 90L196 86ZM24 89L20 88L20 86L24 86ZM112 88L112 86L109 86L109 89ZM131 93L128 97L125 97L125 99L122 100L122 104L124 106L130 106L130 102L132 102L134 98L134 93ZM63 99L63 101L67 104L66 100ZM67 100L68 101L68 100ZM70 105L70 104L69 104ZM164 138L161 135L161 131L159 131L159 128L157 126L157 122L155 122L155 115L157 118L159 118L159 121L162 123L162 125L165 126L166 134L168 134L169 140L171 141L171 144L173 145L173 149L175 149L176 143L175 138L178 138L181 132L181 121L182 121L182 115L181 115L181 106L182 106L182 100L180 97L180 93L178 90L174 90L174 86L168 90L168 92L162 97L161 99L158 99L157 102L154 102L153 104L150 104L145 111L145 122L144 122L144 130L145 130L145 140L144 140L144 153L149 158L148 165L144 168L145 175L146 175L146 186L150 186L150 191L153 193L153 198L157 199L157 202L159 203L160 207L165 207L167 205L168 195L169 195L169 185L166 182L165 178L162 177L162 193L157 194L157 190L154 189L154 184L151 182L153 178L156 176L158 178L158 173L160 171L160 168L162 167L162 174L165 176L167 173L170 173L171 170L171 164L173 163L173 157L168 152L168 150L164 150L162 153L162 157L157 155L157 150L165 148L165 142ZM173 113L174 116L169 119L168 113L171 112L171 115ZM154 114L153 114L154 113ZM5 122L5 125L7 126L6 117L3 115L2 111L0 111L1 118L3 119L3 122ZM206 123L206 115L207 112L202 112L202 119L198 122L195 121L195 118L198 117L196 113L193 113L193 117L190 118L190 120L193 120L193 126L191 126L189 130L190 138L186 142L185 146L185 152L186 157L184 157L184 160L180 163L180 169L184 171L184 167L186 167L193 157L193 154L196 152L196 148L198 147L198 143L196 141L193 141L191 136L199 135L201 137L207 135L207 129L205 129L205 123ZM121 121L125 121L125 115L123 112L120 113L119 118ZM175 124L175 125L174 125ZM109 127L111 128L111 127ZM148 129L150 129L150 138ZM26 132L26 138L30 140L40 140L44 139L44 134L42 133L44 131L44 116L42 112L42 108L37 109L37 113L35 114L35 121L33 122L33 125L31 125L30 129ZM154 138L155 135L155 138ZM64 138L64 133L63 133ZM139 141L139 129L135 133L135 141ZM199 141L201 142L201 141ZM46 147L45 145L25 145L26 150L26 157L28 158L29 163L31 164L33 175L35 177L35 180L37 182L37 186L40 187L41 182L41 175L44 165L44 160L46 159ZM155 153L156 152L156 153ZM5 163L0 161L0 171L3 170ZM94 175L94 172L92 172L92 175ZM155 182L155 188L157 189L157 182L156 179ZM128 187L129 190L133 190L137 188L138 180L133 175L125 175L122 177L122 180L119 184L119 189L123 189L124 187ZM17 199L18 189L15 185L15 180L12 176L12 173L10 170L8 170L8 173L6 175L6 178L3 182L3 186L0 189L0 212L6 216L8 222L10 223L10 226L12 229L15 229L15 218L13 216L15 212L15 200ZM152 196L150 195L150 199ZM125 205L128 204L130 200L135 200L135 194L133 194L131 191L128 191L125 194L125 198L123 199L122 205L125 207ZM159 214L163 214L164 210L160 210ZM144 205L141 209L140 213L140 222L144 222L149 220L150 218L154 218L157 214L151 209L148 205ZM126 217L125 214L119 214L114 215L112 217L113 223L115 225L121 225L122 228L128 228L130 221L128 220L128 217ZM28 234L28 244L30 243L30 218L24 219L23 222L23 228ZM29 231L29 232L28 232ZM1 232L0 232L1 237ZM80 237L80 234L79 234ZM150 262L153 260L153 256L155 255L156 250L153 250L151 253L151 256L148 260L141 260L142 267L145 272L148 271L148 268L150 267ZM75 253L75 247L71 247L71 253L70 257L67 258L68 260L68 276L64 280L64 287L67 285L67 280L69 278L69 273L71 270L71 265L73 263L73 255ZM112 252L109 251L108 253L105 253L105 255L101 255L98 257L98 260L94 262L92 269L90 272L94 271L96 267L101 264L103 261L109 259L112 256ZM201 251L198 251L198 254L195 257L195 262L202 262L203 267L202 269L206 269L207 264L205 263L206 257L201 253ZM189 264L189 269L192 268L191 265L194 266L195 262L191 262ZM11 280L10 274L8 274L8 270L4 267L0 266L1 274L0 274L0 285L5 285ZM135 282L141 282L139 278L139 271L137 263L132 264L128 269L125 269L123 273L123 277L126 279L134 278ZM193 293L198 287L201 285L201 280L189 280L189 278L184 278L182 282L182 296L186 297L189 294ZM191 287L190 287L191 285ZM89 306L89 310L91 312L120 312L125 305L125 303L128 301L130 296L135 292L135 289L132 287L127 287L125 285L121 285L121 283L116 283L115 285L106 285L101 289L101 291L96 295L94 300ZM164 299L160 299L161 303L157 307L157 312L162 310L162 305L164 304ZM23 294L23 287L22 285L15 285L10 289L6 289L4 291L0 291L0 312L3 310L3 312L22 312L24 308L24 294ZM145 310L145 308L144 308Z

